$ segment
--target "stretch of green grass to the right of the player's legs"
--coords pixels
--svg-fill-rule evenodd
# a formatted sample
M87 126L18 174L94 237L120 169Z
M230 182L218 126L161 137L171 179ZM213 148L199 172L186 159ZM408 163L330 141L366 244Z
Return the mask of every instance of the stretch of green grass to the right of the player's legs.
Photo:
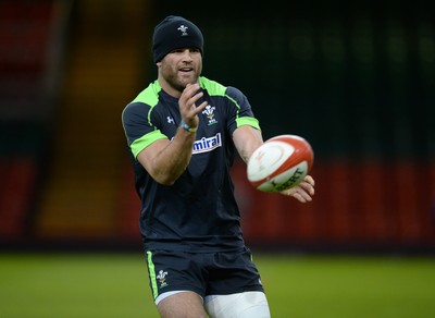
M260 258L272 317L435 317L435 259Z

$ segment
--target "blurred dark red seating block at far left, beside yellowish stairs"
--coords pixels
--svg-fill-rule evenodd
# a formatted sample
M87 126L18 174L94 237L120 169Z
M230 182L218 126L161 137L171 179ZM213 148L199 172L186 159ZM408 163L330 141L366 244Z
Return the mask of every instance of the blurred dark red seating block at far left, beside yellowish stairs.
M0 240L28 234L49 117L53 1L0 2Z

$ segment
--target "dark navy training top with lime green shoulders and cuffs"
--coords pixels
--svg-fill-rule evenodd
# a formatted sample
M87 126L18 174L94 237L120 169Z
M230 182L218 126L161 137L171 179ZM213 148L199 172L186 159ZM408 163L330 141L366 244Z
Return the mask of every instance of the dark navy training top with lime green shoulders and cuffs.
M241 125L260 130L244 94L200 77L207 100L199 113L192 157L171 186L157 183L136 156L157 139L172 139L181 123L178 99L151 83L122 114L141 199L140 233L144 247L184 252L217 252L244 245L240 213L229 169L235 156L234 131Z

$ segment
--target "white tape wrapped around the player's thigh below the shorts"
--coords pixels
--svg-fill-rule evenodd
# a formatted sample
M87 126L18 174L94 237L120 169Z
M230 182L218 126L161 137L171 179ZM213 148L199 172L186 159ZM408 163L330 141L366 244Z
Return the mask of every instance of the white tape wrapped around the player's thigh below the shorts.
M268 299L262 292L210 295L204 299L212 318L270 318Z

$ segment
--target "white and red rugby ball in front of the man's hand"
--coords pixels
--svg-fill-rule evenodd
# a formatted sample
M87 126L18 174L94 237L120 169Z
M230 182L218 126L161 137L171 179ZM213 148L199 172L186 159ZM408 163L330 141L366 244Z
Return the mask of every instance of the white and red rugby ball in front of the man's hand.
M298 185L310 172L313 160L313 150L304 138L278 135L253 151L247 176L259 191L282 192Z

